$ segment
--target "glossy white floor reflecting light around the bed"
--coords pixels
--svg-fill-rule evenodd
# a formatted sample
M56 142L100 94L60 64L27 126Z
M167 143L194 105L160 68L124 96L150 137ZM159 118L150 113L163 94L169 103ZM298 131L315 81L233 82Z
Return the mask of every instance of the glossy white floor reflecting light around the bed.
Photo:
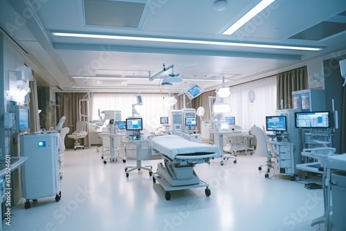
M322 230L311 220L323 214L322 190L307 190L289 176L264 178L259 156L237 156L237 163L221 159L194 167L205 187L165 191L145 170L125 176L135 160L103 164L96 148L66 150L61 201L39 198L24 209L24 198L12 207L10 226L3 230ZM162 160L145 161L154 172Z

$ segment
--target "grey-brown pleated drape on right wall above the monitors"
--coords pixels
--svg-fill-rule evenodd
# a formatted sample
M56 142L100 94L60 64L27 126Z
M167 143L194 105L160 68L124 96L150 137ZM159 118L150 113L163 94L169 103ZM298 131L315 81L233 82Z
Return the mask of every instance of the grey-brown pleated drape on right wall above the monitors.
M307 89L307 66L278 73L276 109L292 109L292 91ZM282 106L281 106L282 104Z

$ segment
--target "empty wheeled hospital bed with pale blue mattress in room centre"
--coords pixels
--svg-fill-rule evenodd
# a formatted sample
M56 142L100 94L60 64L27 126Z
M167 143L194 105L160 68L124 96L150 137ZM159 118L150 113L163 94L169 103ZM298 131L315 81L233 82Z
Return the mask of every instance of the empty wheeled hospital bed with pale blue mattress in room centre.
M158 163L153 181L163 187L167 201L170 200L169 191L196 187L206 187L206 196L210 196L209 185L199 179L193 167L220 157L219 147L191 142L176 135L156 136L152 138L151 146L163 156L164 164Z

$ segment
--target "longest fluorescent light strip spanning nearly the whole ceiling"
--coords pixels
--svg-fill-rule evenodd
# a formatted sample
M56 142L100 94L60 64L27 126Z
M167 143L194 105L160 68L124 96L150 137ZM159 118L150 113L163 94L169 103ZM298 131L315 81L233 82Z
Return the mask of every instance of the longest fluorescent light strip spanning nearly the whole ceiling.
M60 37L83 37L90 39L122 39L122 40L135 40L135 41L163 41L174 42L181 44L204 44L204 45L218 45L218 46L244 46L244 47L256 47L256 48L274 48L274 49L289 49L289 50L322 50L322 48L302 47L302 46L280 46L269 44L242 44L226 41L203 41L203 40L189 40L189 39L164 39L154 37L131 37L131 36L118 36L118 35L93 35L93 34L78 34L78 33L52 33L55 36Z

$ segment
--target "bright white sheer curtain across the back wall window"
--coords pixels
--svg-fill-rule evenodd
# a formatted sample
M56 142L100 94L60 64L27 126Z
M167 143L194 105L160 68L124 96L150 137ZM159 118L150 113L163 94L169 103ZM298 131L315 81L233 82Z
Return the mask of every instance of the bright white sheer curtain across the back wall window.
M167 95L158 93L142 93L143 105L136 105L135 109L143 118L144 128L155 132L161 127L160 117L167 116L168 111L174 109L166 104ZM92 118L98 120L98 109L121 111L122 120L132 116L132 104L136 104L136 95L132 93L93 93Z

